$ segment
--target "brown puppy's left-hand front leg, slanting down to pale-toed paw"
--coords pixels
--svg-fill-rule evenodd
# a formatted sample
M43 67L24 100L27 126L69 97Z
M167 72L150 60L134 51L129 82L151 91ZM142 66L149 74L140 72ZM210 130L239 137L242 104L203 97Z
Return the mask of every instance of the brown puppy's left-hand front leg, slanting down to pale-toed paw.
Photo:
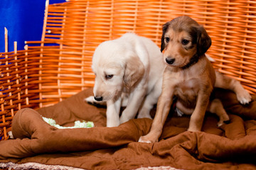
M164 123L171 108L171 103L173 102L173 97L174 86L170 86L168 83L165 85L163 84L163 89L157 102L156 115L151 125L151 129L147 135L139 137L139 142L151 143L159 141Z

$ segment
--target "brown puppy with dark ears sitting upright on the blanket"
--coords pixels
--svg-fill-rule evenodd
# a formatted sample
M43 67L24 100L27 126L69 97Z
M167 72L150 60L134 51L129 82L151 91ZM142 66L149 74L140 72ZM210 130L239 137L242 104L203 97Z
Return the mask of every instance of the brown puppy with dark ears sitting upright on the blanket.
M203 26L188 16L164 24L161 51L164 50L167 65L162 92L151 130L148 135L140 137L139 142L158 141L174 96L178 111L191 114L188 130L194 132L201 130L207 110L219 116L218 126L229 120L220 100L210 101L214 87L233 90L242 104L251 101L250 94L239 81L215 72L205 55L210 45L210 37Z

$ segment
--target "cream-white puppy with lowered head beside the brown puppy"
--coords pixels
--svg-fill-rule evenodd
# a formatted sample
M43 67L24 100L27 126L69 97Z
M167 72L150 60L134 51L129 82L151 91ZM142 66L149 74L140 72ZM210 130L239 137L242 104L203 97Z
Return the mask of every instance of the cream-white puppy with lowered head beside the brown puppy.
M151 118L149 112L161 94L165 64L159 47L148 38L126 33L102 42L92 58L93 93L107 101L107 127L134 118ZM87 102L94 103L92 97ZM119 118L121 106L127 106Z

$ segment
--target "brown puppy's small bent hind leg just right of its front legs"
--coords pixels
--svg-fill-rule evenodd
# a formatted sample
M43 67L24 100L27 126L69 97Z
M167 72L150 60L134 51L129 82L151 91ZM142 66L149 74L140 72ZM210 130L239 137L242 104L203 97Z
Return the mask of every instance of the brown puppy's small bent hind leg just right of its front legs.
M218 121L218 127L220 127L224 123L227 123L228 120L230 120L230 118L228 117L228 114L225 112L223 104L218 98L215 98L213 99L213 101L210 101L208 106L208 111L210 111L210 113L215 113L216 115L218 115L220 119Z

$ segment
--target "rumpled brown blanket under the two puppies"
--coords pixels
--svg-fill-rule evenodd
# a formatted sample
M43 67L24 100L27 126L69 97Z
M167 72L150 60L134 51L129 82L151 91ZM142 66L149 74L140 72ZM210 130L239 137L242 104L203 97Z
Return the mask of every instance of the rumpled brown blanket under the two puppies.
M146 144L137 140L149 132L152 120L134 119L106 128L105 108L84 102L91 94L88 89L55 106L16 113L12 123L16 139L0 142L0 166L36 162L81 169L256 169L256 101L241 106L233 93L218 90L230 124L217 128L218 118L208 113L203 132L187 132L189 117L173 115L166 120L160 142ZM87 120L96 127L59 130L41 115L59 125Z

